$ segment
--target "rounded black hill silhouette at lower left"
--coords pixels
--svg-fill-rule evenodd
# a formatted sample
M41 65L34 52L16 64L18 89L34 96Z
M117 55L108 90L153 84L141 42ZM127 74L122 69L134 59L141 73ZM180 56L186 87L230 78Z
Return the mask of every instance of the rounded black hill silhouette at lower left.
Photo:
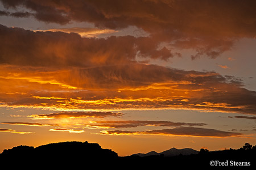
M43 166L54 165L66 167L70 165L85 165L89 163L106 163L117 159L116 152L102 149L97 143L88 142L61 142L50 143L39 147L16 146L3 150L0 155L0 163L9 164L9 167L19 165ZM15 163L15 164L13 164ZM1 169L1 168L0 168Z

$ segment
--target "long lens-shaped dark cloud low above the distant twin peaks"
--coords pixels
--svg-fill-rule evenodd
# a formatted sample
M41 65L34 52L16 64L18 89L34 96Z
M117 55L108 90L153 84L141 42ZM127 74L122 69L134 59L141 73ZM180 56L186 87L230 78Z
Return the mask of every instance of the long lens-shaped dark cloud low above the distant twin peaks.
M159 135L187 135L196 137L241 137L241 133L221 131L216 129L195 128L195 127L177 127L174 129L147 130L147 131L122 131L108 130L101 131L102 134L159 134Z

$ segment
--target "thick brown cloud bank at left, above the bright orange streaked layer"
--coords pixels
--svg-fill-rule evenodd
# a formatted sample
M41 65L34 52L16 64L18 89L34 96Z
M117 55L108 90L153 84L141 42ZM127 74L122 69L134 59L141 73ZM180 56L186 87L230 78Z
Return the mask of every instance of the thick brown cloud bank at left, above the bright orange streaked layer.
M33 32L0 25L0 38L0 63L19 66L94 67L131 63L137 53L146 58L174 56L167 48L158 49L149 37L92 39L77 33Z

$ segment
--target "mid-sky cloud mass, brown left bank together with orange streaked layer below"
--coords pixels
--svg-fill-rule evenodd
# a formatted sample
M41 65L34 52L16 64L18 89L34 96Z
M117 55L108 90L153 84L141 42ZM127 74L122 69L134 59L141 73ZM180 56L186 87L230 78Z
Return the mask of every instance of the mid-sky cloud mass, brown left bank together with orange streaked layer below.
M256 113L255 92L243 88L234 76L136 62L137 55L173 57L152 41L153 35L89 39L75 33L33 32L3 25L0 32L1 107Z

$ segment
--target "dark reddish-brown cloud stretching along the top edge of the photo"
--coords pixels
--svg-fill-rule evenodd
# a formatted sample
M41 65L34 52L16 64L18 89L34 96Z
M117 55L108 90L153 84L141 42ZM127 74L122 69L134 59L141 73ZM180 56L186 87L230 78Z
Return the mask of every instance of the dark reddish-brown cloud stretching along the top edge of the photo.
M35 11L38 20L65 23L71 20L92 22L111 28L137 25L149 32L164 29L187 33L250 32L255 14L254 1L9 1L1 0L6 8L20 5ZM177 15L179 14L179 15ZM234 19L236 18L236 19ZM243 28L242 25L247 25ZM215 27L213 27L215 26ZM233 26L237 26L232 28ZM194 28L194 29L191 29ZM230 29L232 28L232 29ZM221 31L222 30L222 31ZM200 32L199 32L200 31ZM228 32L226 32L228 31ZM214 36L214 35L212 35Z

